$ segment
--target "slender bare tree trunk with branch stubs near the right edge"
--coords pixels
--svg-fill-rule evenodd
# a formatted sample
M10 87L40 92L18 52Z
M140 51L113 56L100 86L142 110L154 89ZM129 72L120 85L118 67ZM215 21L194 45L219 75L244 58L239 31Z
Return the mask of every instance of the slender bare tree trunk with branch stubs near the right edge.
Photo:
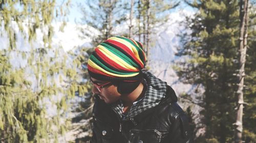
M248 1L240 1L240 69L239 69L239 84L238 84L238 111L235 142L242 143L242 132L243 132L243 107L244 107L244 77L245 77L245 61L246 61L246 49L247 49L247 26L248 26Z

